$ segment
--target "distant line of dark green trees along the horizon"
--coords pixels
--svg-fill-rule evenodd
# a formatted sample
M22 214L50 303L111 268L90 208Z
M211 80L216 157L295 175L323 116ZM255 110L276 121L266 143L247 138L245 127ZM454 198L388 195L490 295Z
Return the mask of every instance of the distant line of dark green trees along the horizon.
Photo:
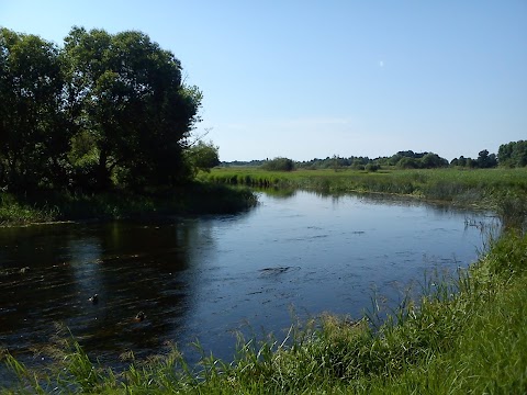
M312 159L307 161L293 161L292 159L278 157L266 160L251 161L234 161L223 162L225 167L236 166L255 166L267 170L290 171L293 169L355 169L375 171L381 167L396 167L400 169L436 169L446 167L462 167L470 169L490 169L497 166L514 168L527 166L527 142L511 142L500 146L498 153L490 154L483 149L479 153L478 158L460 156L450 162L434 153L414 153L412 150L399 151L391 157L378 157L371 159L369 157L343 158L339 156L327 157L325 159Z

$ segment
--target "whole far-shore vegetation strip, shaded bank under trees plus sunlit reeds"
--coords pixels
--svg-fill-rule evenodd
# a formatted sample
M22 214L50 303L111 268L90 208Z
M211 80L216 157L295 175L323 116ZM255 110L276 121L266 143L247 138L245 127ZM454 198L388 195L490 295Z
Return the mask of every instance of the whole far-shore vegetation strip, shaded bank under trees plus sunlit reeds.
M490 210L507 227L523 226L518 221L527 215L527 168L389 169L368 172L330 169L268 171L256 167L220 167L201 171L197 181L157 189L150 193L121 189L103 193L46 190L19 194L0 192L0 226L236 213L257 204L257 196L250 192L250 188L303 189L334 195L403 195Z

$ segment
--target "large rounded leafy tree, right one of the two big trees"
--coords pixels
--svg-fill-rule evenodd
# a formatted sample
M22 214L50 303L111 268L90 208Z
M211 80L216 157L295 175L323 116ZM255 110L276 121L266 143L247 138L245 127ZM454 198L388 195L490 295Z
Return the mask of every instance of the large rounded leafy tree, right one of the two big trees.
M201 92L182 83L180 61L133 31L74 27L64 49L67 103L79 136L93 144L97 187L109 188L113 176L141 187L187 174L182 150L200 121Z

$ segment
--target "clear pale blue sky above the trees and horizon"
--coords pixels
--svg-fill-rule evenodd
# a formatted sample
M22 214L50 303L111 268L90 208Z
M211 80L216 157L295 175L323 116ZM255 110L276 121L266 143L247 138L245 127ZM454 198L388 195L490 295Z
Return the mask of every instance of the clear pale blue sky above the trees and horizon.
M222 160L452 159L527 139L527 1L0 0L0 25L61 45L139 30L203 91Z

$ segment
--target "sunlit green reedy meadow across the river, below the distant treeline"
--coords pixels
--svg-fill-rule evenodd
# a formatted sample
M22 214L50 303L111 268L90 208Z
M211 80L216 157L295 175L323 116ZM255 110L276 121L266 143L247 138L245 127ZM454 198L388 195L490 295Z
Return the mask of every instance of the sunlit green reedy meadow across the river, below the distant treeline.
M380 192L459 204L490 205L504 194L527 195L527 169L296 170L217 168L202 179L227 184L287 187L328 193Z

